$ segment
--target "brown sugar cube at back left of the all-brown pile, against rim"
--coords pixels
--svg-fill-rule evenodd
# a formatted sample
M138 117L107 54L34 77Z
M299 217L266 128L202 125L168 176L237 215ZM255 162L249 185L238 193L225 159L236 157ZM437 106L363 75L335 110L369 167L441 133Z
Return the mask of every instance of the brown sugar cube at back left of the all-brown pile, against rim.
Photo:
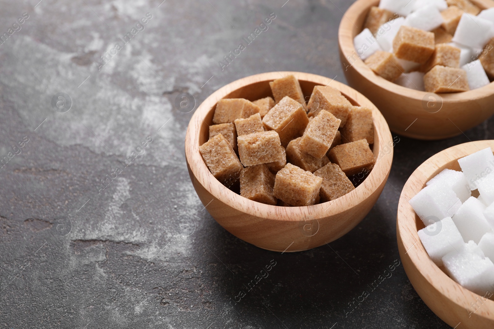
M214 110L213 123L233 123L236 119L248 118L259 113L259 107L243 98L219 100Z

